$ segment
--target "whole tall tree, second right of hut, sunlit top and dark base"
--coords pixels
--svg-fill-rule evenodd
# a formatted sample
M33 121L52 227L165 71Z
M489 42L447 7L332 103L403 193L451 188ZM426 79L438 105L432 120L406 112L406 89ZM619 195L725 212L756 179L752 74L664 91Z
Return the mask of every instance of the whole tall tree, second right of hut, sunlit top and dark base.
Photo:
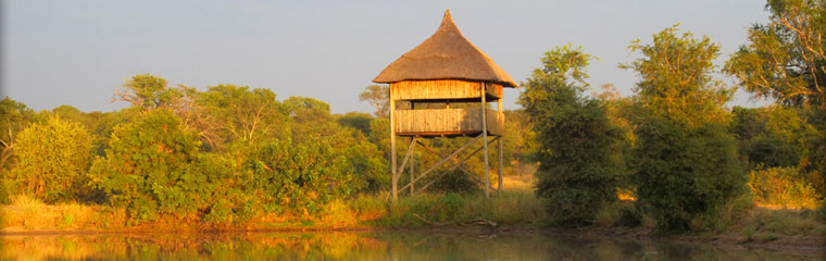
M746 183L722 105L731 90L711 76L719 48L709 37L676 32L655 34L652 45L633 41L642 58L621 66L642 78L631 113L631 181L637 206L653 211L661 231L712 225Z

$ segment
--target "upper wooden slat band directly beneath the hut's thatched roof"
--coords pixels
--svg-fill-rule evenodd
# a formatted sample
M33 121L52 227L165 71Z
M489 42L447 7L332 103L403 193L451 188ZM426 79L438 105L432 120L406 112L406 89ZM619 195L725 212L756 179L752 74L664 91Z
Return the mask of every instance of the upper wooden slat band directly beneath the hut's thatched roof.
M403 80L390 84L393 100L439 100L479 98L480 82L461 79ZM502 85L488 84L488 96L502 98Z

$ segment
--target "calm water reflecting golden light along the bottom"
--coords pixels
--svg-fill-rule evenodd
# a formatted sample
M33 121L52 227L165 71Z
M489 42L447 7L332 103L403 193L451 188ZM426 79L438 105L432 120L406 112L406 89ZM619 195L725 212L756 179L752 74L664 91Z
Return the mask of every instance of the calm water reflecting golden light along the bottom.
M0 260L824 260L822 251L547 233L3 235Z

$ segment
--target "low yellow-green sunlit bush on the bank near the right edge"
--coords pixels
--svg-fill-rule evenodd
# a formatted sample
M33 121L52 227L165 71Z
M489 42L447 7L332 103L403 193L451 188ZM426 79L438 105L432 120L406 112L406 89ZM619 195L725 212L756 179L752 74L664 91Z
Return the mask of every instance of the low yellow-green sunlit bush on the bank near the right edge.
M796 167L758 167L749 174L749 188L756 202L783 208L816 209L819 196Z

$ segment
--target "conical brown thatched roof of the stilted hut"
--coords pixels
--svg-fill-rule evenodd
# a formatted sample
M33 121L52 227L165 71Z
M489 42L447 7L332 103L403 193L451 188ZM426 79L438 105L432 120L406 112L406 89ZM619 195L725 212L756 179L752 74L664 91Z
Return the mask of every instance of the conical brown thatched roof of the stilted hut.
M516 87L493 60L462 36L450 10L430 38L392 62L373 82L389 84L410 79L470 79Z

